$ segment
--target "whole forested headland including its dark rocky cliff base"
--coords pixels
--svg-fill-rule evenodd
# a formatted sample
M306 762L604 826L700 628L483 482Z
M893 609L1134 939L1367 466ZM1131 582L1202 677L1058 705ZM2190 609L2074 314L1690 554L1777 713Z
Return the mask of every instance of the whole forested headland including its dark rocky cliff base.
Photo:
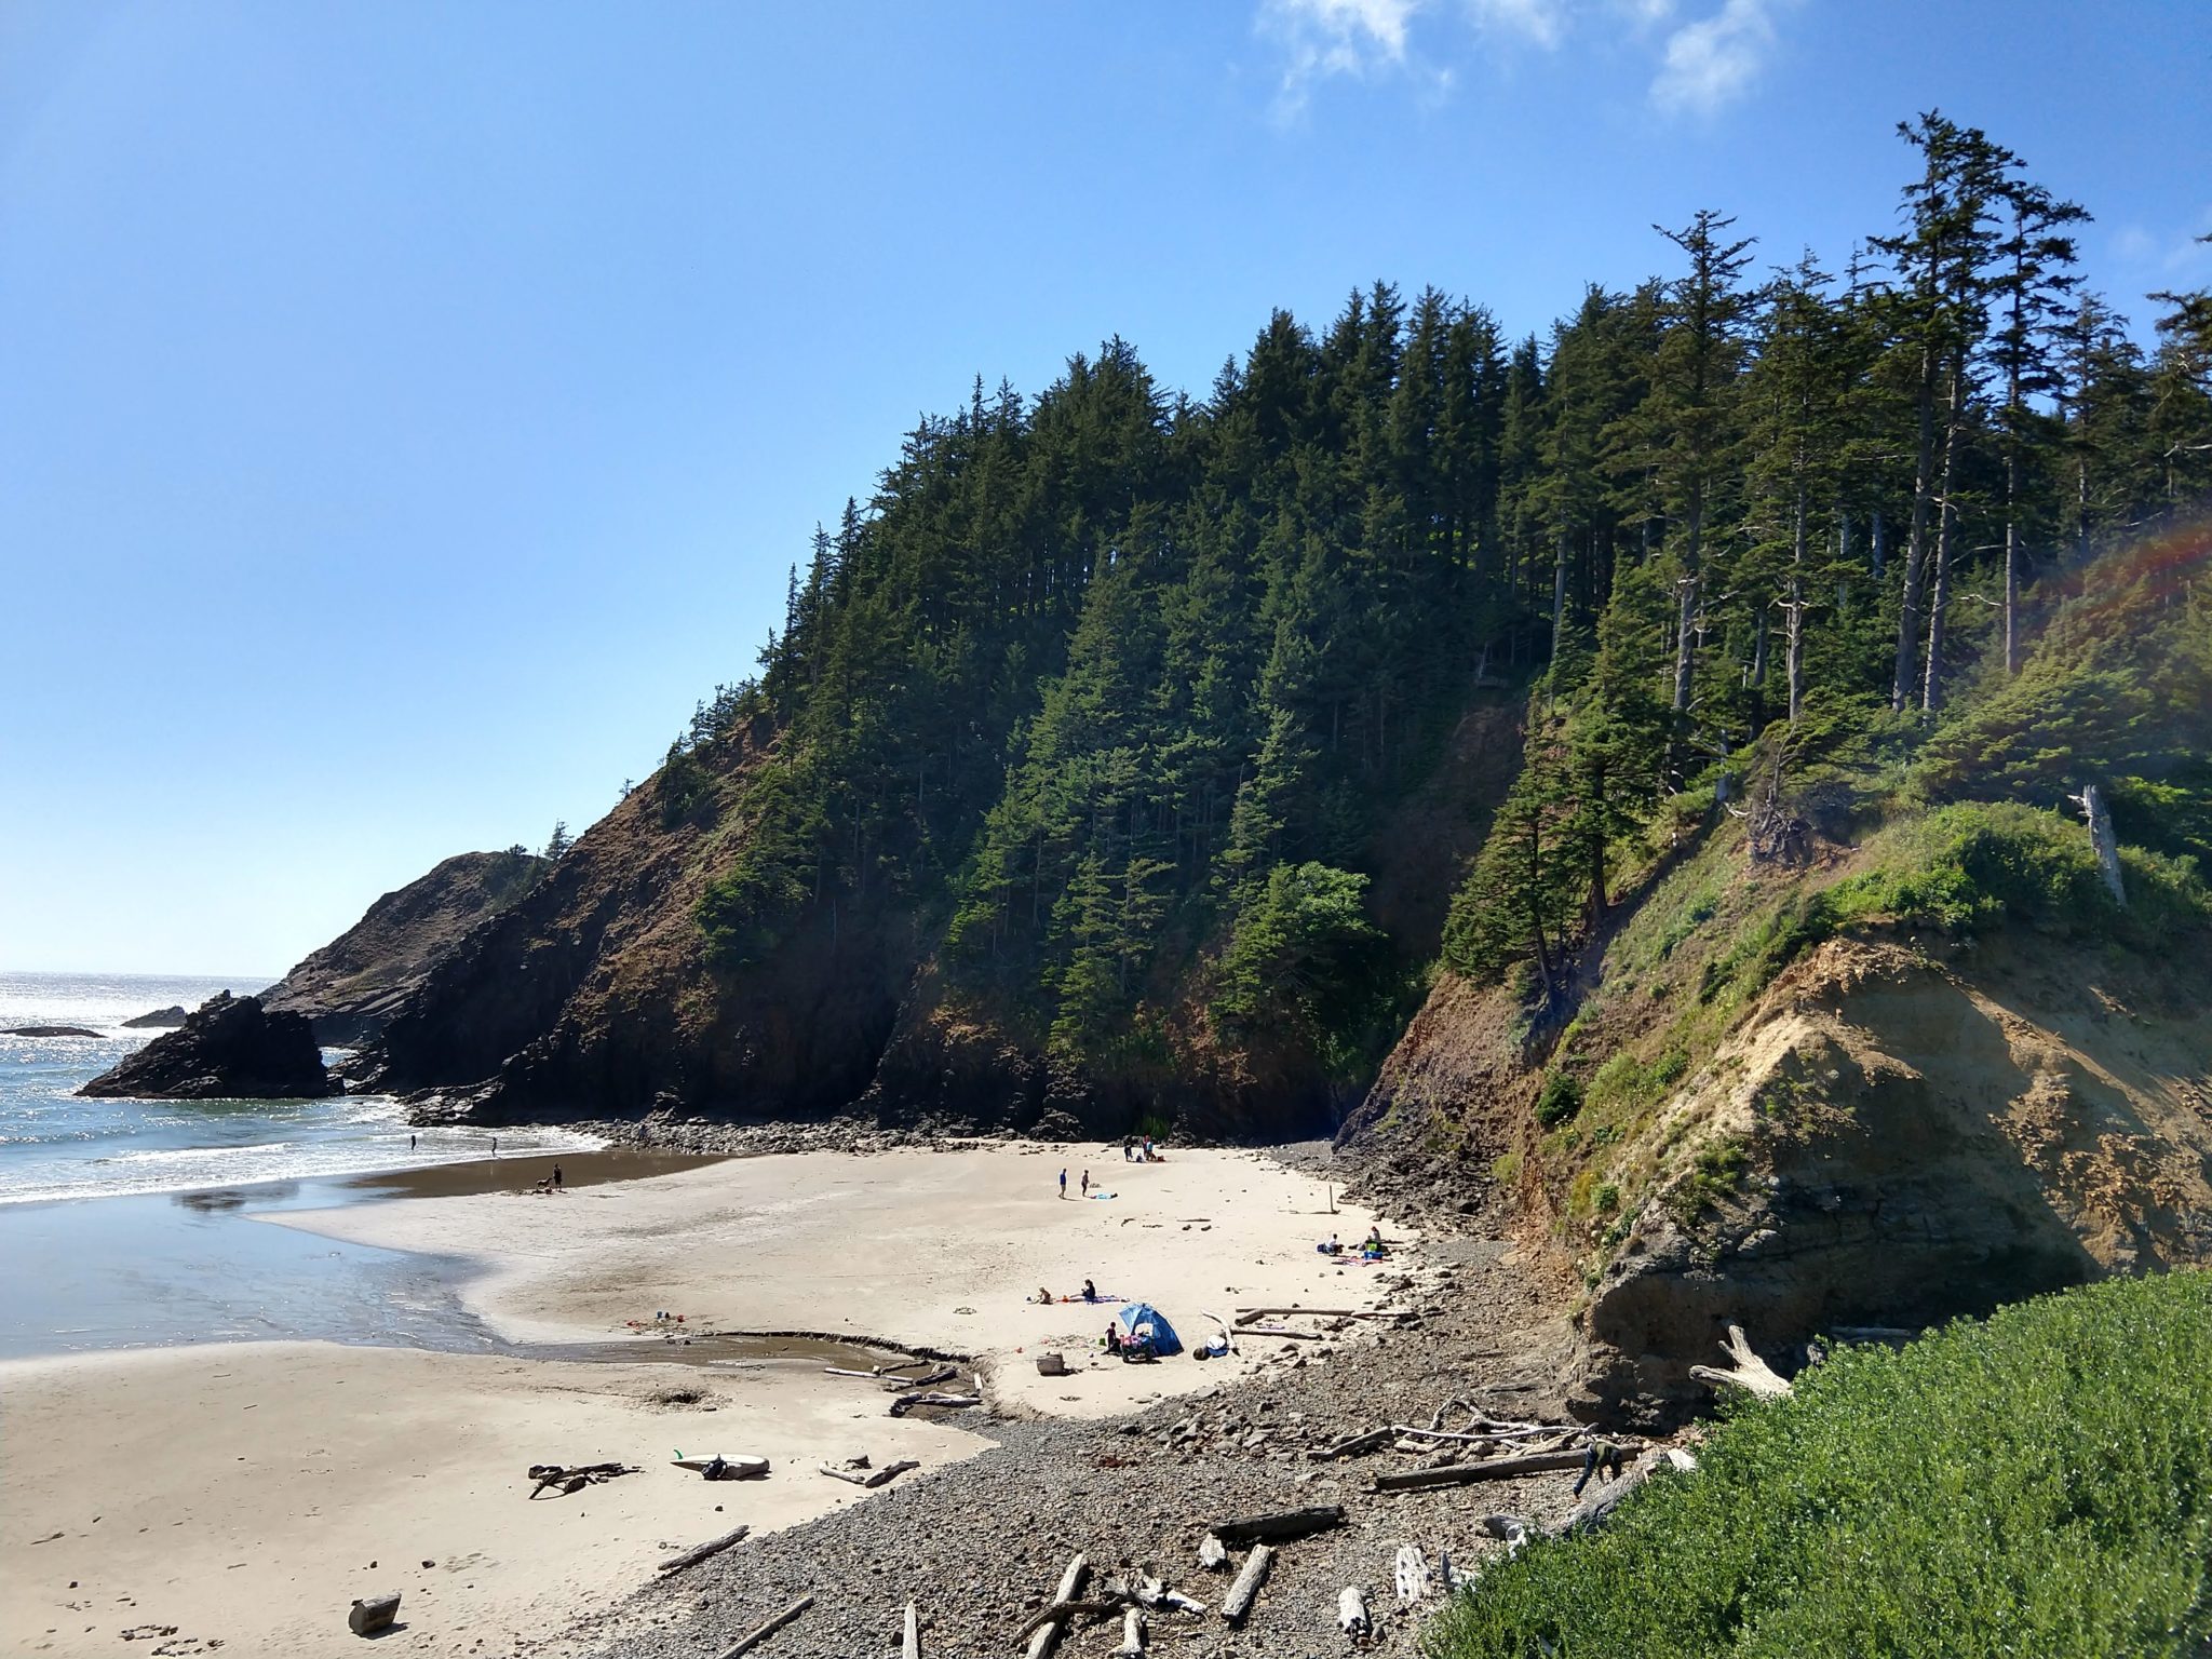
M940 1108L1018 1057L978 1115L1325 1126L1438 964L1564 1013L1688 825L1823 765L1975 774L1958 734L2039 719L2104 555L2179 549L2159 604L2201 613L2212 299L2157 296L2143 349L2081 206L1940 115L1900 137L1893 223L1827 265L1699 212L1544 336L1376 283L1201 398L1119 338L978 380L392 1079ZM2199 644L2110 672L2157 750L2106 768L2121 834L2212 852ZM648 902L684 914L617 962Z

